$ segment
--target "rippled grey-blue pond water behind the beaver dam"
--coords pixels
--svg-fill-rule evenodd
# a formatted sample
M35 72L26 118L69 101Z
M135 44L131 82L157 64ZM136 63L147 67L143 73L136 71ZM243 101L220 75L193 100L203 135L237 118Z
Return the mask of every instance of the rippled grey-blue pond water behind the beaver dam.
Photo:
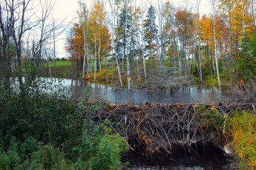
M64 79L65 86L72 89L75 98L85 98L85 88L91 86L90 98L111 103L219 103L230 99L230 95L217 87L199 88L183 86L166 92L146 89L114 89L106 84L86 83Z

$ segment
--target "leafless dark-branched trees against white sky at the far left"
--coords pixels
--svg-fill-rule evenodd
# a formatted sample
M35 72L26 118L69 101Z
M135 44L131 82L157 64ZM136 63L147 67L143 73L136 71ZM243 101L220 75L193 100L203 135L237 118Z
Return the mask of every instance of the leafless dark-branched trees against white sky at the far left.
M33 6L32 0L4 0L0 2L0 28L1 36L1 60L7 61L4 67L11 70L12 64L17 64L18 78L22 90L22 56L29 54L27 58L33 58L39 66L42 58L42 49L49 40L62 33L64 29L62 21L53 24L50 20L53 5L50 0L39 1L39 8ZM57 33L53 33L58 30ZM29 35L29 36L28 36ZM30 38L27 47L29 52L23 52L24 39ZM8 55L7 46L15 49L15 55ZM22 53L23 52L23 53ZM10 58L9 58L10 56ZM3 62L3 63L4 63Z

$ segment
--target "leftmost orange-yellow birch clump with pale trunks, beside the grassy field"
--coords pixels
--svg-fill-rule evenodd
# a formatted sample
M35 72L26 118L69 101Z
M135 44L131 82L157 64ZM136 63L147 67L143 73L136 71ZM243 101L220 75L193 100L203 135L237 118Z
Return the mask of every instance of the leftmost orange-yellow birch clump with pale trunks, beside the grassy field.
M93 64L94 81L96 80L96 72L99 69L102 72L102 56L107 56L111 50L111 35L106 24L106 13L104 5L95 1L91 12L88 12L85 4L80 2L82 9L79 11L80 23L73 25L73 34L67 38L67 52L71 58L76 60L77 76L79 72L85 75L85 67L92 71L89 65L89 57ZM87 64L86 64L87 59Z

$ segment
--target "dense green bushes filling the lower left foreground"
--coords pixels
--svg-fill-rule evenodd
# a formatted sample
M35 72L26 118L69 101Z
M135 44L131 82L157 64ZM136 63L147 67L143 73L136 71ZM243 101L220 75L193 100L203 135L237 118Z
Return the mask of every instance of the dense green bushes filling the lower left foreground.
M0 82L0 170L122 166L126 141L108 122L83 117L97 112L99 103L88 109L88 102L72 101L61 83L44 78L24 78L22 86L7 91Z

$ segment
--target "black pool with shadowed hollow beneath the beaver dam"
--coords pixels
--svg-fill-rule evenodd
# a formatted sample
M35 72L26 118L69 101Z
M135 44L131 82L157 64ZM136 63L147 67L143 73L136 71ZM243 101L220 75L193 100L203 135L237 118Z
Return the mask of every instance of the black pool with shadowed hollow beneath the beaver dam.
M215 147L201 148L191 154L142 154L129 153L122 157L131 164L129 169L237 169L237 160Z

